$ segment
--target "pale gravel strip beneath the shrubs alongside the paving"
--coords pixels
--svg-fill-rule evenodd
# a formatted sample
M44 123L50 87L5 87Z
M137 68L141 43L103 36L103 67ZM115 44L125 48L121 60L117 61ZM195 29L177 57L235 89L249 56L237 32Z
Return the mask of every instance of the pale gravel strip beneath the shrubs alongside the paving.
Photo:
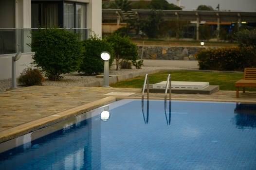
M138 72L138 71L146 71L146 70L154 70L159 69L159 67L143 67L141 69L119 69L119 70L113 70L110 69L110 74L128 74L132 72ZM161 68L163 69L163 68ZM79 73L73 73L73 74L65 74L62 75L64 78L60 81L49 81L45 80L43 82L43 85L52 85L52 86L86 86L86 84L97 82L100 80L100 78L96 78L96 76L85 76ZM17 82L18 84L18 82ZM12 85L12 80L0 80L0 92L4 92L8 90ZM19 87L19 86L18 86Z

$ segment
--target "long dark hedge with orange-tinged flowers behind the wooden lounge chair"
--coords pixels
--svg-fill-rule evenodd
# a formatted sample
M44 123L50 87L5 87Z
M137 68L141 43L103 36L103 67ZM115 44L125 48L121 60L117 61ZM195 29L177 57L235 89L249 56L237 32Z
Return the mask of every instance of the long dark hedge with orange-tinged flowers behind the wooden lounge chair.
M243 71L246 67L256 67L252 47L204 49L198 51L195 57L199 69Z

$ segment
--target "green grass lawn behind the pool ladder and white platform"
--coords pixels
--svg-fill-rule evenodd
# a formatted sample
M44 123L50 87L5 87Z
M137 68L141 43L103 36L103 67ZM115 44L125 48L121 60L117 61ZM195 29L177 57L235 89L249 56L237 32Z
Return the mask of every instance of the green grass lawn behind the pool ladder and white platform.
M235 82L243 78L242 73L230 72L205 72L205 71L163 71L149 74L149 84L166 81L171 74L172 81L209 82L210 85L219 85L220 90L236 90ZM129 79L112 84L112 87L142 88L145 76ZM256 91L256 88L246 88Z

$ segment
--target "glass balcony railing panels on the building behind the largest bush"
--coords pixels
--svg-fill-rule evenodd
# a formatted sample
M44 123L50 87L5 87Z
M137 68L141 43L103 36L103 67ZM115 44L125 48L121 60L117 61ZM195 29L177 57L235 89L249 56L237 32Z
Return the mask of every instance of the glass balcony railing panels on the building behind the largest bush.
M79 40L87 39L90 36L90 29L67 29L78 33ZM32 41L31 32L38 31L38 28L0 28L0 55L21 52L31 52L28 44ZM31 38L32 37L32 38Z

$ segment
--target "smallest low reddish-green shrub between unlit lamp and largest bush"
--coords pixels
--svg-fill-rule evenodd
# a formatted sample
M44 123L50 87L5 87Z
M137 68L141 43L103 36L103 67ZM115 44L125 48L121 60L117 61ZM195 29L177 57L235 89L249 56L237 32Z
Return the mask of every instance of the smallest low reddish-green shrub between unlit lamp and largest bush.
M42 85L44 78L37 68L26 68L24 69L18 78L18 83L24 86L31 85Z

